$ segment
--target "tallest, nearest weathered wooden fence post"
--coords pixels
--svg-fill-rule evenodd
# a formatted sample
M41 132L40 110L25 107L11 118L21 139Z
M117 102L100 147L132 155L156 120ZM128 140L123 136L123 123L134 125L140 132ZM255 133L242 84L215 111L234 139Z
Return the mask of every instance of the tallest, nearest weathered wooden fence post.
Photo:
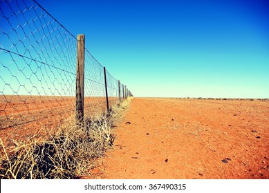
M76 110L76 120L80 123L83 123L84 119L84 54L85 54L85 35L78 34L75 110Z

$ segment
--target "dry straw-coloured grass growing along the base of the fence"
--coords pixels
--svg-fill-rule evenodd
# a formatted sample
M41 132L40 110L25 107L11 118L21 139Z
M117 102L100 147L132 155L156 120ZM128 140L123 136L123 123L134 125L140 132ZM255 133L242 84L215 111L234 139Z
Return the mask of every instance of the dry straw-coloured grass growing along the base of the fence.
M113 145L111 125L120 121L130 100L113 106L109 115L85 119L84 125L68 119L57 132L47 131L47 139L37 132L5 146L0 138L0 179L75 179L89 175L95 159Z

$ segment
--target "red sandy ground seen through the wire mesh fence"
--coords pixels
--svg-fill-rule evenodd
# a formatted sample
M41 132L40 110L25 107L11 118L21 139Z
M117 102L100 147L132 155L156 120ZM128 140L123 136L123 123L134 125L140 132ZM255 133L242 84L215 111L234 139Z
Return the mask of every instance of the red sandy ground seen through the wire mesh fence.
M111 105L117 100L118 97L109 97ZM85 115L105 110L105 97L84 98ZM53 132L70 117L75 117L72 96L0 95L0 137L4 143L27 139L41 128Z

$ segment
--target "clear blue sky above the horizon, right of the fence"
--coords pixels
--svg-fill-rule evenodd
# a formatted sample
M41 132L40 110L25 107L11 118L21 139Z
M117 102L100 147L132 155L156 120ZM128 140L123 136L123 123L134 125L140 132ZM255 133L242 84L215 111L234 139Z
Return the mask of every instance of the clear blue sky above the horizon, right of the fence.
M269 98L269 1L37 1L135 96Z

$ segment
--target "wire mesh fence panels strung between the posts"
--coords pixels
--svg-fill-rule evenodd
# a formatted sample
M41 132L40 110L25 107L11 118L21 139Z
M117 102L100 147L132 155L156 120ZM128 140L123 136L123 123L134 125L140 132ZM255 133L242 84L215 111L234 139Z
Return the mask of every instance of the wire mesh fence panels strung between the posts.
M52 127L75 114L76 59L76 37L39 3L0 0L0 130ZM104 67L88 50L84 69L84 111L104 112ZM107 71L106 81L113 105L124 86Z

